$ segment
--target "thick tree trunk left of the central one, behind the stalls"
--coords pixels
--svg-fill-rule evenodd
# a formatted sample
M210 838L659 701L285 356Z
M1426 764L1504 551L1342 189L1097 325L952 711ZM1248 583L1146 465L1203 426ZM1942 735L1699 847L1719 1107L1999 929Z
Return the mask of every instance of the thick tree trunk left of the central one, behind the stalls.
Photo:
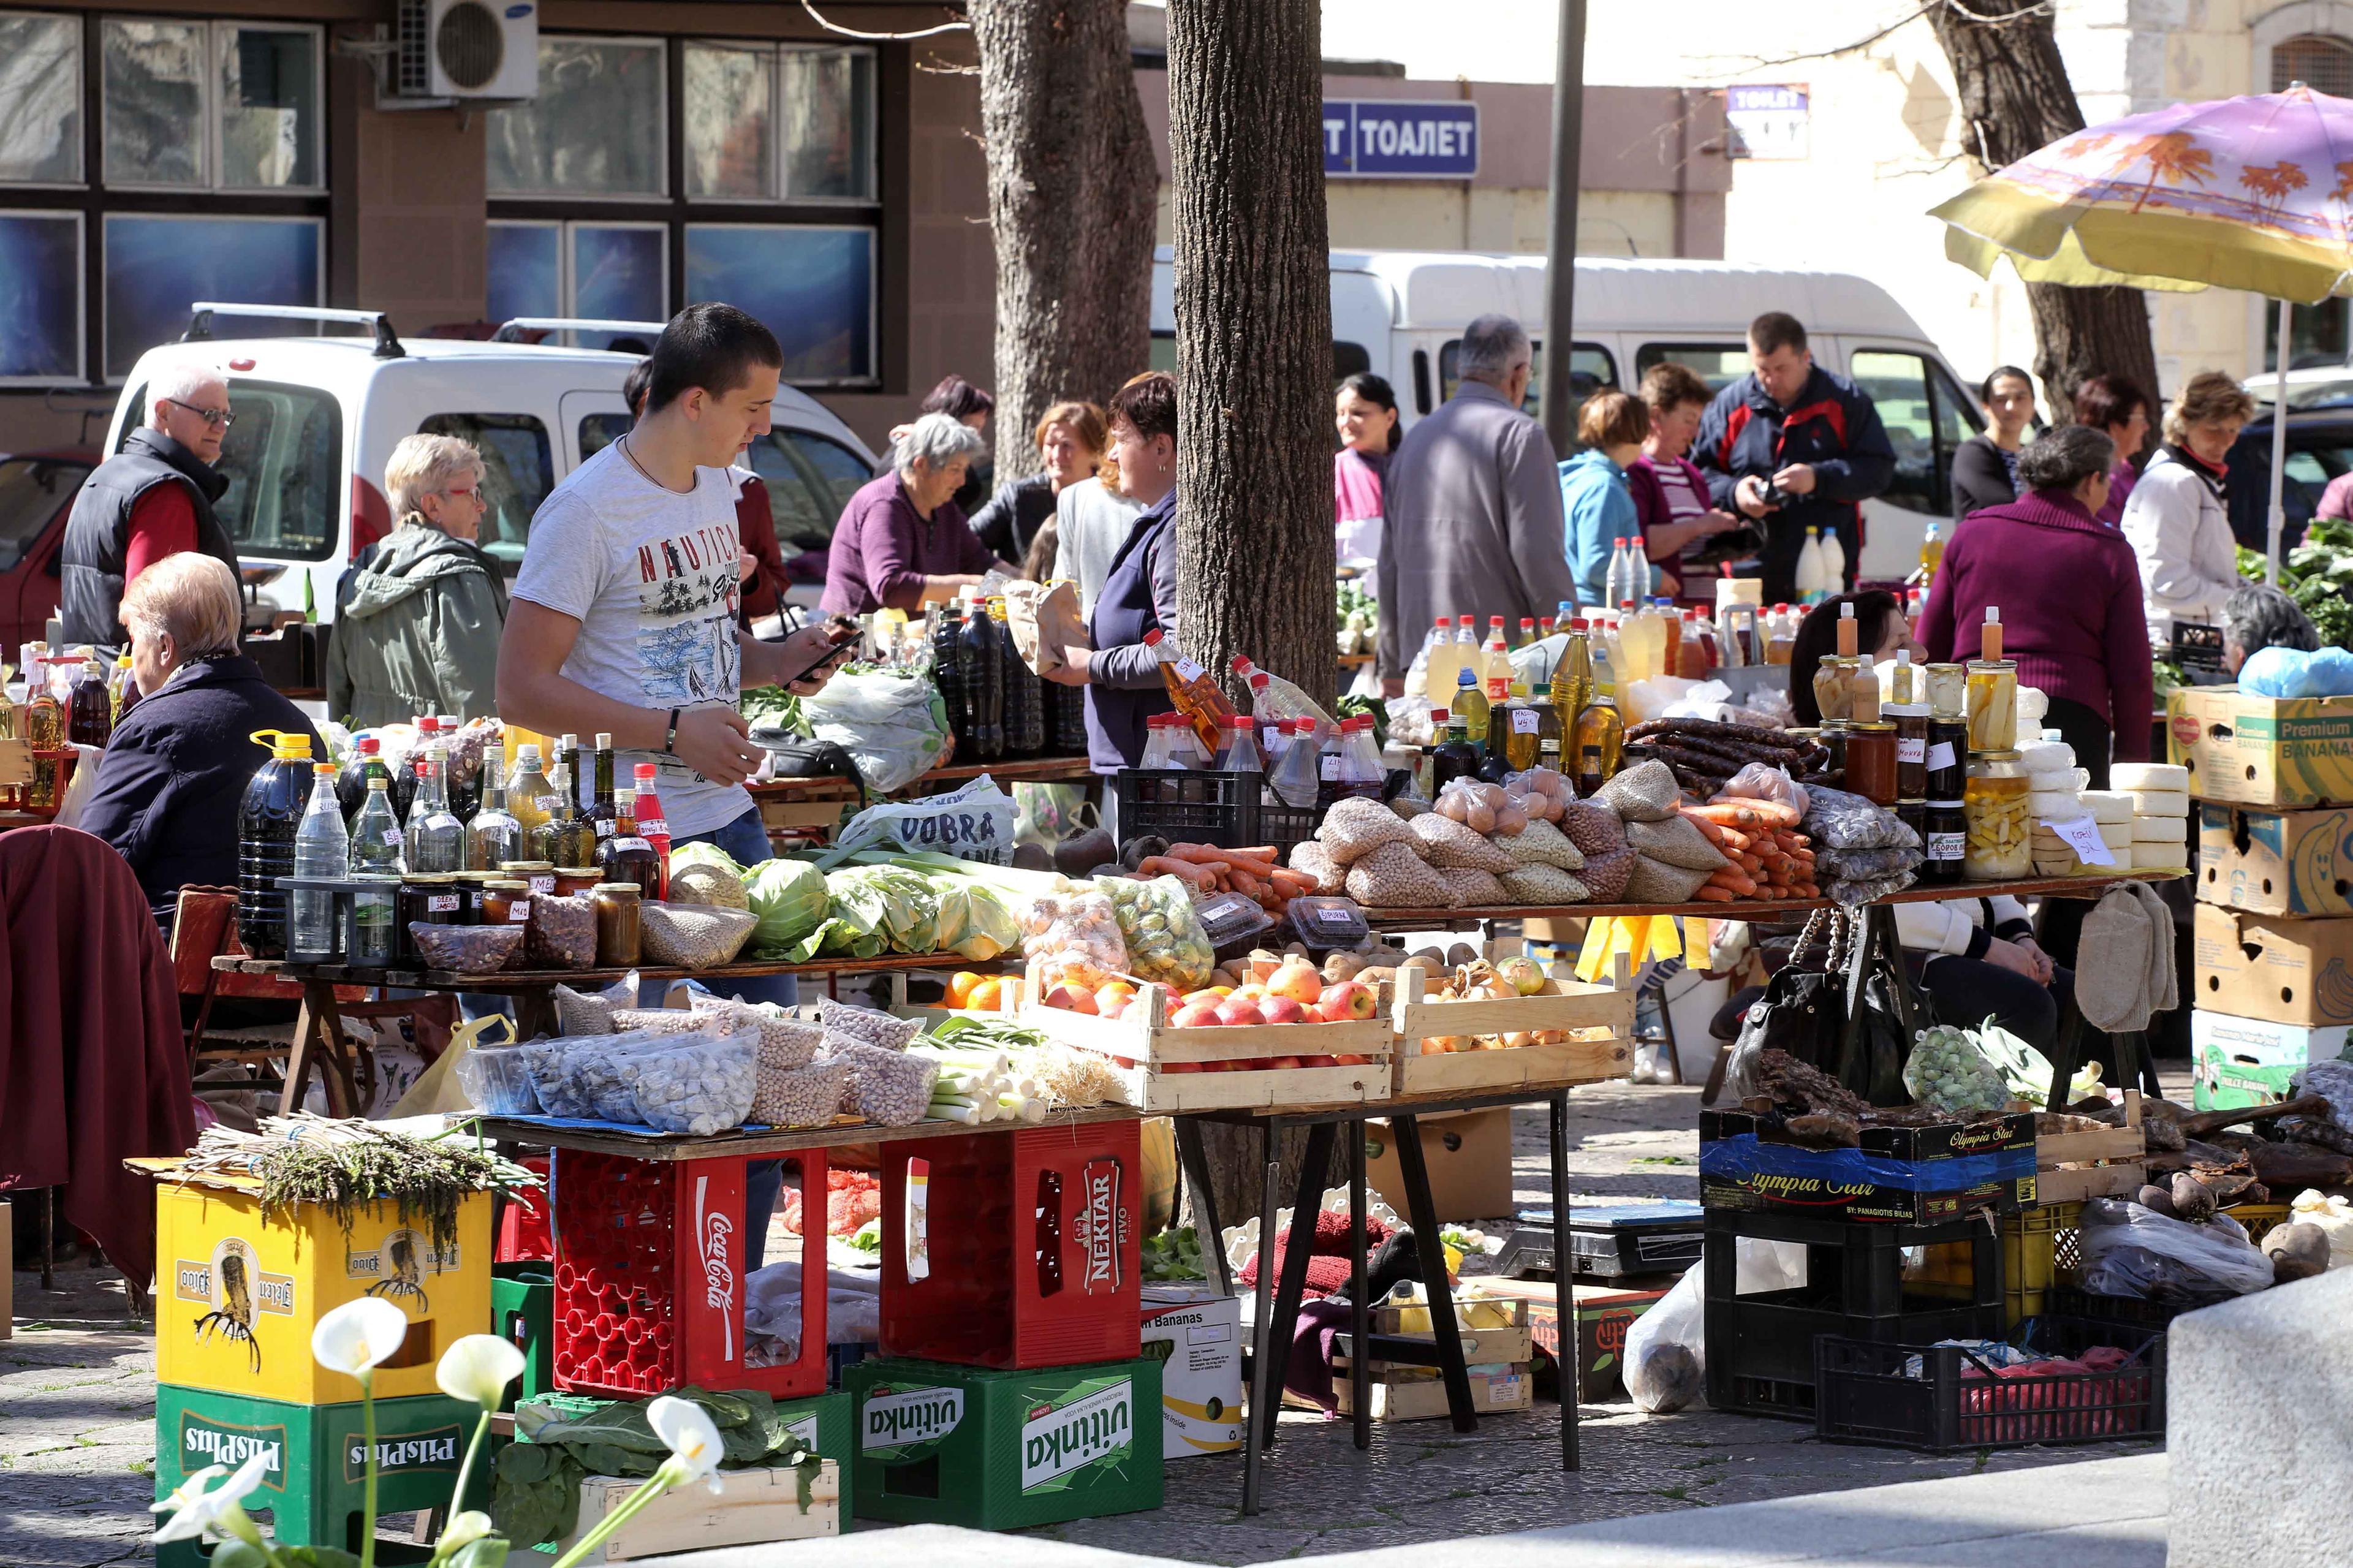
M1038 417L1151 363L1153 144L1122 0L972 0L998 252L1000 480Z

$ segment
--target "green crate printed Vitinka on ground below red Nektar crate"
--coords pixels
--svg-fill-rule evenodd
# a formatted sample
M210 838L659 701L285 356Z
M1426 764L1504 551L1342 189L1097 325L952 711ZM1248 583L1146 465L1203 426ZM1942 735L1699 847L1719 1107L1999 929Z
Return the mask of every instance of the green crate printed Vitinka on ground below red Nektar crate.
M1160 1507L1153 1358L995 1373L885 1356L842 1382L859 1519L1019 1530Z

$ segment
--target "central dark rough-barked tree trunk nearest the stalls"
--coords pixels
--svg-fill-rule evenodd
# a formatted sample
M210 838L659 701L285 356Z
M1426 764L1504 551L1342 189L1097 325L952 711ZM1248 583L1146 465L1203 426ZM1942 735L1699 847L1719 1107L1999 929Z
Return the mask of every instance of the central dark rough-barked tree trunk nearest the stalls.
M1332 704L1332 283L1313 0L1172 0L1176 640ZM1231 685L1231 683L1228 683ZM1205 1128L1219 1215L1259 1210L1257 1130ZM1299 1140L1287 1140L1285 1180Z

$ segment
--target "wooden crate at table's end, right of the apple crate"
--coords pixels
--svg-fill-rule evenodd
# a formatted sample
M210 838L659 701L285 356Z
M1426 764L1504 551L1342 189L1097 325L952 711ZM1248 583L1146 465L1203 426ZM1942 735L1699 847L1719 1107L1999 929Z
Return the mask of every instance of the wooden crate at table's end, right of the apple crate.
M1584 984L1562 961L1548 972L1546 991L1508 1001L1431 1001L1421 968L1398 970L1391 1024L1398 1034L1398 1095L1466 1092L1482 1088L1558 1088L1605 1083L1633 1069L1633 982L1626 956L1617 958L1612 984ZM1449 1034L1518 1034L1569 1029L1558 1045L1506 1045L1499 1050L1421 1052L1421 1041Z

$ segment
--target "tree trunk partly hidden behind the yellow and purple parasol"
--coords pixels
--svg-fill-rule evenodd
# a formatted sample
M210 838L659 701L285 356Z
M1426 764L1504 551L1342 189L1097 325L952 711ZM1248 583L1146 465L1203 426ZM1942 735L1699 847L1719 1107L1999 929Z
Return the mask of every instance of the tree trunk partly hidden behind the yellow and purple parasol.
M1939 5L1927 19L1953 61L1967 127L1962 139L1988 172L2082 129L2047 0L1977 0L1967 9ZM2026 304L2035 315L2035 377L2052 421L2071 421L2075 388L2104 372L2158 396L2158 356L2141 290L2028 283Z

